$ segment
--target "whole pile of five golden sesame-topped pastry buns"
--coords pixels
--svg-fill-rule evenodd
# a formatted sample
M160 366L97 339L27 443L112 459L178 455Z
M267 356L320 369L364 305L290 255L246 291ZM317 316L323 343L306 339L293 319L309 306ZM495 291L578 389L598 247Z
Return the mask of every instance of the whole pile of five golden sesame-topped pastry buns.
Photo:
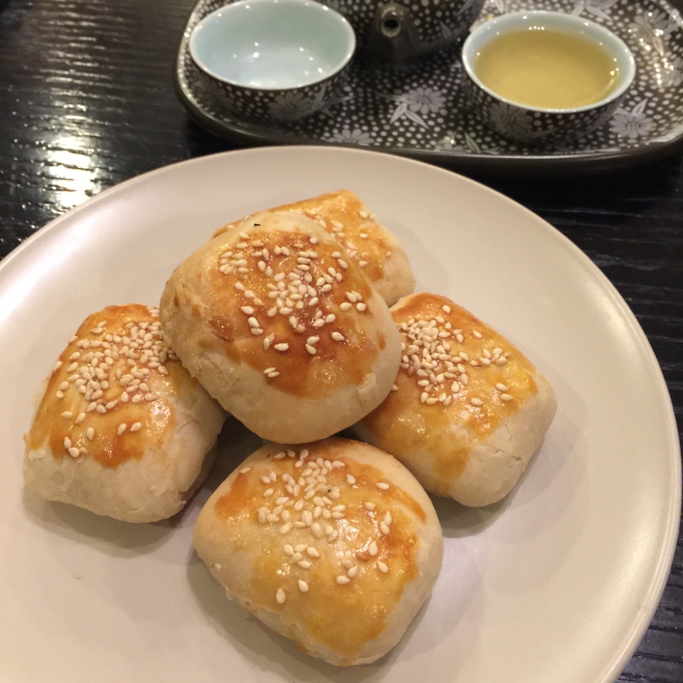
M231 413L265 444L201 510L198 556L310 655L377 660L440 571L428 494L502 499L556 409L511 342L414 288L351 191L223 226L159 309L107 307L70 339L26 434L26 485L125 521L171 517Z

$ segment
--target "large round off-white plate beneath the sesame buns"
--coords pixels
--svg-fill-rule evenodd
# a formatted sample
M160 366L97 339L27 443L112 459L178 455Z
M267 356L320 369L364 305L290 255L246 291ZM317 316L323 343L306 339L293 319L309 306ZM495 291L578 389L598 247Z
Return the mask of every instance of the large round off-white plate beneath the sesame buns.
M243 434L184 514L124 524L23 491L21 437L81 320L156 303L214 228L356 190L403 240L418 288L449 295L549 376L558 413L502 504L439 500L435 593L383 660L334 669L237 605L194 556L198 507L255 445ZM647 628L669 570L680 460L669 396L625 302L571 243L509 199L377 152L279 147L203 157L117 186L0 265L0 679L600 683Z

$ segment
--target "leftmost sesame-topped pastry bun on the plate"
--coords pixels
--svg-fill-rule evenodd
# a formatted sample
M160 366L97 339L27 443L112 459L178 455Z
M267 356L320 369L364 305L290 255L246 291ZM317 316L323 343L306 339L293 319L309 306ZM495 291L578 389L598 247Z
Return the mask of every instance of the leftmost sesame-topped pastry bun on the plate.
M176 514L225 413L162 338L157 309L108 306L59 356L25 435L26 486L123 521Z

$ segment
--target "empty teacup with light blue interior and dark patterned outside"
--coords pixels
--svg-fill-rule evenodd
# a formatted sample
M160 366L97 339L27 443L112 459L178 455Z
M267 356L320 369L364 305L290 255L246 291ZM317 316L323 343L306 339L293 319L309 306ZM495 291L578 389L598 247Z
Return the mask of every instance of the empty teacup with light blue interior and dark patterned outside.
M356 38L314 0L240 0L205 16L189 38L198 77L236 117L293 121L337 97Z

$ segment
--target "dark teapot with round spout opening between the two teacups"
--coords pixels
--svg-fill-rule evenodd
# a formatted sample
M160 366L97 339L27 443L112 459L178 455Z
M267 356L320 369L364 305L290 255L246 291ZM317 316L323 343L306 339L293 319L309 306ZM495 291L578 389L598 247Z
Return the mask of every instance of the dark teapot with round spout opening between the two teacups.
M320 0L345 16L361 51L401 61L460 41L485 0Z

